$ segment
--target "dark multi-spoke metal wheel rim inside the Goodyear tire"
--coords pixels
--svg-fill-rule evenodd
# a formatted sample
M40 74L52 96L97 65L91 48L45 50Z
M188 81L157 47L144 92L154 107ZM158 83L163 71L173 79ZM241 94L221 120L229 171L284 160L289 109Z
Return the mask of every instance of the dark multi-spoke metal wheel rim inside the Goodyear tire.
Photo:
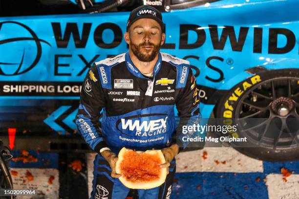
M235 110L238 131L260 147L298 147L298 83L299 78L282 77L260 82L248 89Z

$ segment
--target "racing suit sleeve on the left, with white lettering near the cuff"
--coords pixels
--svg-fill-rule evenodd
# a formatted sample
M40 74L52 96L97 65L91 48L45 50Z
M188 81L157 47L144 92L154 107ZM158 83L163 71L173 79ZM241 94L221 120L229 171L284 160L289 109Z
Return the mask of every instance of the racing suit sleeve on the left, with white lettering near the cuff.
M96 153L108 147L103 140L99 128L99 118L105 106L105 95L95 64L89 69L80 93L80 105L76 116L76 124L85 142Z

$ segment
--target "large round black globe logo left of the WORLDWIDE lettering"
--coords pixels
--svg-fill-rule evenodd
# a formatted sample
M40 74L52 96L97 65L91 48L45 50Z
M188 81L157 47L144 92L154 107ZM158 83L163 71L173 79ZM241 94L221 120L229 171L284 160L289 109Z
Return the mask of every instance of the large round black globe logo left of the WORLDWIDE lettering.
M48 44L45 40L40 40L37 35L26 25L16 21L0 22L0 45L5 56L0 60L0 75L14 76L28 72L39 62L42 56L41 42ZM7 38L5 36L15 36ZM31 37L28 37L30 35ZM26 37L24 37L26 36ZM21 42L18 42L21 41ZM36 49L31 46L35 42ZM9 50L12 49L11 52ZM5 53L4 53L5 52ZM34 53L36 52L36 55ZM8 67L9 66L9 67Z

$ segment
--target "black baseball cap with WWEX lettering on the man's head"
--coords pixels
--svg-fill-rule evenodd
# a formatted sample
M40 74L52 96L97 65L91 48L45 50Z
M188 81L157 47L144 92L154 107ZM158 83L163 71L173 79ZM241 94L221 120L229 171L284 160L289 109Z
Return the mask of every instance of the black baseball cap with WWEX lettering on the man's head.
M132 25L136 20L145 19L145 18L157 21L162 28L162 32L163 33L165 32L165 24L162 21L161 12L149 5L141 5L131 11L127 23L127 31L130 25Z

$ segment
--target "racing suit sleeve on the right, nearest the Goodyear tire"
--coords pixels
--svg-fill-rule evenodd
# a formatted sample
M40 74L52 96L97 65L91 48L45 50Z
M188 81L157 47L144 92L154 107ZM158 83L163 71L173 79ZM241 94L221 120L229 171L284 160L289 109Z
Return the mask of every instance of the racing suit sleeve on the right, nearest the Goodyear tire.
M178 111L179 124L176 128L176 133L172 136L172 143L177 143L179 152L187 147L188 141L183 141L183 137L194 137L196 135L195 129L186 133L184 126L193 126L199 124L201 114L199 111L199 97L198 89L196 87L196 80L190 68L188 79L184 88L178 94L178 100L175 105ZM184 133L183 133L184 128Z

